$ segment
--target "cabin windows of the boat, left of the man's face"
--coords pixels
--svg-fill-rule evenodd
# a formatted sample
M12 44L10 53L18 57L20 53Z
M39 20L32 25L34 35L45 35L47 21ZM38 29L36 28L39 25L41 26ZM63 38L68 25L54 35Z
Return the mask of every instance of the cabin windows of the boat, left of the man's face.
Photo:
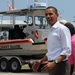
M32 16L28 17L28 25L29 26L47 26L47 21L45 16L34 16L34 19Z

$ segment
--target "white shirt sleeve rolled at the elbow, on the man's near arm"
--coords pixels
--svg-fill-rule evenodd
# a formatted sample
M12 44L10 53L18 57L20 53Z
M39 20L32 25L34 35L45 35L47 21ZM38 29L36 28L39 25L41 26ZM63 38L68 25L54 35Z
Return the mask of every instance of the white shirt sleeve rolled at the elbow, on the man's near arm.
M66 57L71 55L71 34L69 29L65 28L64 30L60 31L60 38L61 38L61 46L62 52L60 55L66 55ZM64 37L63 37L64 36Z

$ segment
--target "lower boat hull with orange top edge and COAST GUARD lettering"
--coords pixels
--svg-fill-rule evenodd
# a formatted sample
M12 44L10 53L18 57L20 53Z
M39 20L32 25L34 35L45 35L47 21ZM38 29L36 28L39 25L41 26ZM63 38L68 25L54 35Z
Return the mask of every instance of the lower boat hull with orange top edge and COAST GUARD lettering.
M37 55L47 52L46 43L31 43L25 39L0 42L0 56L6 55Z

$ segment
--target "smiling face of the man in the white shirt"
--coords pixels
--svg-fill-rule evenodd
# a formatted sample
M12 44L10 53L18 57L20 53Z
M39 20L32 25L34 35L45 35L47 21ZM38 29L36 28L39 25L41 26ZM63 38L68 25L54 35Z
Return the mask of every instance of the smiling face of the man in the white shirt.
M56 23L58 18L58 14L56 14L54 9L52 8L46 9L45 16L48 24L50 24L51 26Z

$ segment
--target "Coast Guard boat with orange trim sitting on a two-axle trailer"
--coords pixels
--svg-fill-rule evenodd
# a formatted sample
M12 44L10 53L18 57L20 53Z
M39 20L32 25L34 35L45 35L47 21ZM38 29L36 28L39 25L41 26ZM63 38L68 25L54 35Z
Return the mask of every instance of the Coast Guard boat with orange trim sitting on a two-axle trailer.
M0 69L2 71L20 71L23 64L28 64L31 68L33 61L46 54L46 41L49 33L49 25L44 14L46 6L36 4L36 7L27 9L0 12L1 16L13 17L12 24L0 24L2 31L0 36ZM25 16L23 32L28 35L24 39L9 39L9 30L14 28L17 16ZM19 24L19 27L21 26Z

